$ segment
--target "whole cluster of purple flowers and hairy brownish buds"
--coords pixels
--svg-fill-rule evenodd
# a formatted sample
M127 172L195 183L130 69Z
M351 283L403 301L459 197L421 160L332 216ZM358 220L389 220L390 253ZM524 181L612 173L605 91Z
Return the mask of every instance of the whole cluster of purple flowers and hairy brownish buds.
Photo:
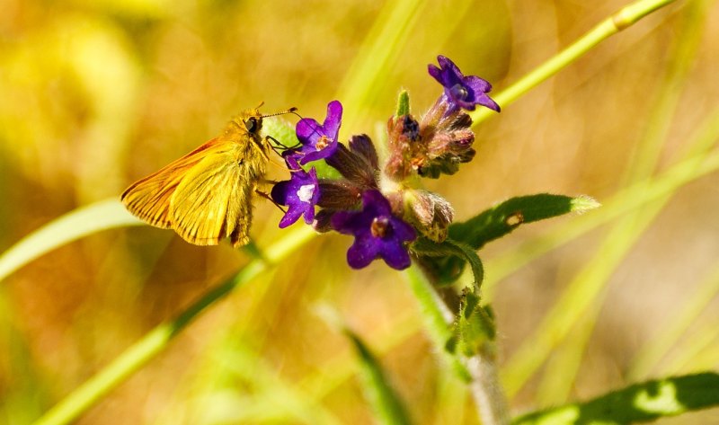
M290 180L275 184L271 198L287 206L280 227L304 217L317 231L334 230L353 235L347 252L352 268L360 269L378 258L402 270L410 265L409 244L418 234L434 242L447 237L454 212L448 201L428 190L414 189L414 176L438 178L457 173L459 164L472 160L475 134L464 111L482 105L500 111L488 95L492 86L474 75L465 76L448 58L429 73L444 92L422 120L407 111L387 123L389 155L380 167L377 151L367 135L339 143L342 103L330 102L320 124L313 119L297 122L297 148L283 157ZM315 166L324 162L342 179L318 178ZM320 208L315 212L315 207Z

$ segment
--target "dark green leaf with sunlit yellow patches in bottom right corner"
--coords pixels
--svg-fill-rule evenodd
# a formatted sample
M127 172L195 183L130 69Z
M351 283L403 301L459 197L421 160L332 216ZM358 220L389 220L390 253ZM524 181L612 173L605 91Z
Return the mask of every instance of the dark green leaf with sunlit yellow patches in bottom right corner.
M707 372L627 386L589 402L528 413L512 421L512 425L619 425L654 421L714 406L719 406L719 375Z

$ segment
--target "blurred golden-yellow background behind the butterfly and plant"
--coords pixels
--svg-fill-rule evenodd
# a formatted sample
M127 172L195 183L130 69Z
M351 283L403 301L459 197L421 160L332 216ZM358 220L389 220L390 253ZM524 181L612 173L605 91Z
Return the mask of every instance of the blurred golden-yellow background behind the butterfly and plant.
M74 208L119 197L237 111L265 102L264 112L296 106L322 120L339 99L342 139L380 140L401 88L416 114L439 95L426 71L438 54L498 93L626 3L0 0L0 252ZM393 19L402 37L372 47ZM719 117L716 40L715 2L650 15L502 105L476 128L475 160L427 187L453 204L457 220L524 194L612 199L643 140L659 141L658 171L668 169L697 128ZM551 354L511 394L512 412L719 368L715 292L655 367L632 368L715 270L717 187L709 174L673 193L607 270L581 315L590 325L566 323L565 338L548 337ZM261 248L283 235L280 217L268 202L255 207ZM504 367L531 350L523 344L614 225L500 280L493 259L581 218L521 227L480 252ZM401 275L381 261L350 270L350 244L315 238L239 288L78 423L371 422L351 346L317 314L323 305L376 350L414 421L478 423L471 397L439 365ZM29 423L248 261L227 243L197 247L139 226L67 244L14 273L0 283L0 423ZM562 386L555 371L573 367L569 386L553 390ZM661 423L719 423L719 412Z

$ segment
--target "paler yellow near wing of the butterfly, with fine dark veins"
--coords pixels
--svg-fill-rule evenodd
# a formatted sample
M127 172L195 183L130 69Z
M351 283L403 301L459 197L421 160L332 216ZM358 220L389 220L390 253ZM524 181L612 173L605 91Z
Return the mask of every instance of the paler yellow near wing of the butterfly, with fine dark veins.
M172 227L189 243L216 245L225 237L235 246L249 242L260 175L244 164L241 146L224 147L194 165L170 199Z

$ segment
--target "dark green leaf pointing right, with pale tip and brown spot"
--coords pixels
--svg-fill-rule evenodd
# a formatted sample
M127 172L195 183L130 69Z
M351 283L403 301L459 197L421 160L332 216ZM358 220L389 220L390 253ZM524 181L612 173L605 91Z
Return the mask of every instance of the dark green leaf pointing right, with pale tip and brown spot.
M588 196L572 198L564 195L540 193L508 199L496 207L484 210L464 223L449 226L449 238L479 250L484 244L509 234L517 227L557 217L570 212L583 213L598 208L599 202ZM462 274L466 259L459 255L423 261L439 284L451 284Z

